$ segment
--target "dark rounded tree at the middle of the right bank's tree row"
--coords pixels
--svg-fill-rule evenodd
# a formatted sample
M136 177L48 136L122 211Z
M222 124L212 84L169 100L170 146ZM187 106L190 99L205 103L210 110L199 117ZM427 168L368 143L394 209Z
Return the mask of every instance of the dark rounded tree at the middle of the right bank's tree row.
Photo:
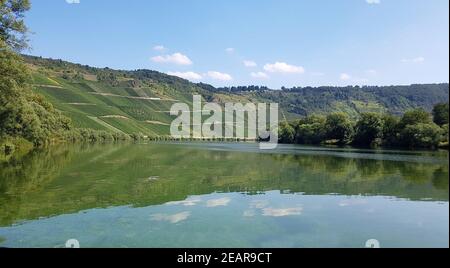
M362 113L356 123L356 135L353 143L364 146L380 145L383 137L383 125L383 119L379 114Z

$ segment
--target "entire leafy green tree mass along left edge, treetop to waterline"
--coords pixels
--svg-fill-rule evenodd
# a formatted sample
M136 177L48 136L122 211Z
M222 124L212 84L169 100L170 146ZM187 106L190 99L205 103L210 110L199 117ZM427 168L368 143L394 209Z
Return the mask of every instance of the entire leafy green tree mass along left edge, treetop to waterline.
M25 45L23 14L28 0L0 0L0 141L24 138L36 145L62 136L70 120L62 116L30 86L22 58L14 52Z

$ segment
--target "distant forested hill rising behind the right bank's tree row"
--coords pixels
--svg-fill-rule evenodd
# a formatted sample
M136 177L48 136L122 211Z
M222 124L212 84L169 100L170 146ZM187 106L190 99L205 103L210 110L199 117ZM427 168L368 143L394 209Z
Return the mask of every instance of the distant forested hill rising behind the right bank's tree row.
M431 111L436 103L445 102L449 97L448 83L382 87L294 87L281 90L249 86L213 90L274 101L293 115L335 111L351 115L367 111L401 115L406 110L418 107Z

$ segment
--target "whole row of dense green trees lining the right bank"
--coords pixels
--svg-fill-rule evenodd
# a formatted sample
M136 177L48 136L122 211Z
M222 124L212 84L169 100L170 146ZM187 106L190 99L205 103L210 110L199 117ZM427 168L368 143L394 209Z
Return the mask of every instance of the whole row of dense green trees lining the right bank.
M311 115L282 122L279 142L286 144L351 145L407 149L447 149L449 103L439 103L430 114L422 108L402 117L361 113L357 119L341 112Z

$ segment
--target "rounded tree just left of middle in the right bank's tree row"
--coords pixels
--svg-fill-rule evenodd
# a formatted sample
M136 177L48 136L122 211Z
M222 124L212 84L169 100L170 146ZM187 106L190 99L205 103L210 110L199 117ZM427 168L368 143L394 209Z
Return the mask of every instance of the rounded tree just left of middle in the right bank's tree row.
M339 144L347 144L353 137L353 124L345 113L332 113L325 122L326 138L338 140Z

